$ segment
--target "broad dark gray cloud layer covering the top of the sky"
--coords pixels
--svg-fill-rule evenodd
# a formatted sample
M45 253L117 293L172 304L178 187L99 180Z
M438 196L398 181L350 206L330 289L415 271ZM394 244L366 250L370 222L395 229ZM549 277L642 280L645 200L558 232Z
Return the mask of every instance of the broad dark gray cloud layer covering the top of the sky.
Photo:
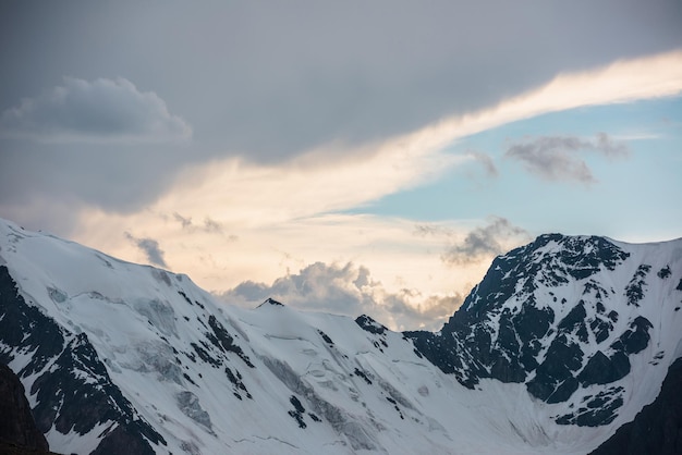
M0 214L45 219L36 200L69 199L53 224L35 225L46 228L82 205L137 210L187 164L278 162L324 144L368 144L495 106L562 72L682 42L675 0L105 3L0 2ZM110 109L87 119L95 98L86 98L57 124L38 115L37 104L58 112L54 90L44 90L71 89L77 79L62 84L64 75L86 81ZM117 87L98 88L97 77L115 85L118 75L138 88L119 84L120 99L109 96ZM153 93L169 108L145 98ZM26 97L33 107L22 108ZM144 133L120 115L125 109ZM191 150L141 140L154 115L166 132L157 138L184 137L169 109L191 120ZM80 126L66 122L72 114ZM138 140L112 142L126 135Z

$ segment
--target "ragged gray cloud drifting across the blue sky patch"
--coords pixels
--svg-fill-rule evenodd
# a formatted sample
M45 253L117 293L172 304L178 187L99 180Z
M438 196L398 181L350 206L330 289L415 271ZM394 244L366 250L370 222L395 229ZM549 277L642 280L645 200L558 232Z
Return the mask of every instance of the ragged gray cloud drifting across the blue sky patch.
M531 173L548 181L597 182L580 152L599 152L609 158L628 156L623 144L614 143L606 133L594 140L574 136L541 136L511 146L506 158L520 161Z

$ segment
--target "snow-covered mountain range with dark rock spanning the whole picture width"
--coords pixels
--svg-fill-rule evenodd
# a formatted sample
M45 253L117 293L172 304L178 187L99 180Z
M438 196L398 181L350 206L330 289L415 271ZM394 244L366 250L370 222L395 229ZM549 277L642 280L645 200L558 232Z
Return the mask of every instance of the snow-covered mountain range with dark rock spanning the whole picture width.
M609 453L680 383L681 307L682 239L543 235L441 331L397 333L0 220L0 362L59 453ZM680 418L657 425L679 453Z

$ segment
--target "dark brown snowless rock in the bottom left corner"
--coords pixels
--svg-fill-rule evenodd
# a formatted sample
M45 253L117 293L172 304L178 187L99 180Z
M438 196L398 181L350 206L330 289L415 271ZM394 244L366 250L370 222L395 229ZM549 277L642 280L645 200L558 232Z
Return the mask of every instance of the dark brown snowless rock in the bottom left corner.
M38 453L48 444L36 427L26 399L24 386L7 365L0 364L0 451L2 444Z

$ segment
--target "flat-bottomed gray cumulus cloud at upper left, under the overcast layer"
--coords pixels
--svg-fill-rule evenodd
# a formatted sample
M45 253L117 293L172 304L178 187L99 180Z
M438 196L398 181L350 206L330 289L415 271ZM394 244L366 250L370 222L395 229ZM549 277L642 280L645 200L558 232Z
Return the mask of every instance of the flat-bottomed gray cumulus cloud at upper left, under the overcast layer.
M63 85L2 112L0 135L45 143L166 143L190 138L192 128L158 95L125 78L65 77Z

